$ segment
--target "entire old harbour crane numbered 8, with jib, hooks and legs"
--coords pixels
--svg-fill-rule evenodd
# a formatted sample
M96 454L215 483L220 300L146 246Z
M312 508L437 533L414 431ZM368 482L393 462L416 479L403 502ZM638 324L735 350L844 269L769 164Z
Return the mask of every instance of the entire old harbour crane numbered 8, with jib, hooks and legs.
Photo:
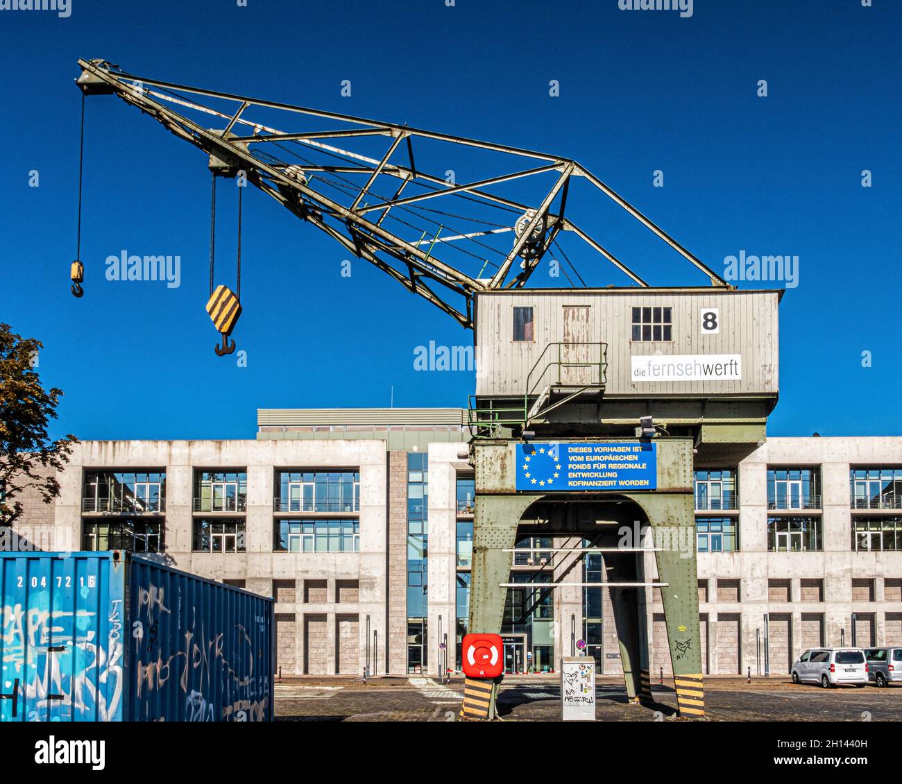
M207 156L207 312L222 336L217 354L235 350L229 337L242 308L244 187L237 286L216 281L222 178L253 185L473 330L484 354L467 410L473 438L458 455L475 479L468 632L502 632L513 556L535 550L518 542L539 538L551 554L542 563L549 579L516 586L540 597L562 589L572 626L558 618L554 630L542 627L544 642L536 635L530 644L560 657L570 636L575 655L583 604L573 592L607 590L604 623L614 623L619 652L604 658L619 659L630 700L651 700L654 637L654 663L672 664L680 714L704 716L695 461L737 465L762 443L778 399L782 291L736 290L566 156L173 84L108 60L78 66L82 152L86 97L113 95ZM458 172L468 176L459 180ZM648 229L701 272L704 285L651 286L598 239L603 218L592 198ZM610 263L623 284L590 286L576 263L596 261ZM530 286L545 263L567 284ZM84 279L77 258L77 297ZM639 532L631 546L624 530ZM602 558L600 582L580 580L588 553ZM429 630L441 627L440 617ZM666 629L653 631L662 619ZM445 642L428 633L439 650ZM527 658L526 636L503 644L522 646ZM498 686L467 678L462 715L493 718Z

